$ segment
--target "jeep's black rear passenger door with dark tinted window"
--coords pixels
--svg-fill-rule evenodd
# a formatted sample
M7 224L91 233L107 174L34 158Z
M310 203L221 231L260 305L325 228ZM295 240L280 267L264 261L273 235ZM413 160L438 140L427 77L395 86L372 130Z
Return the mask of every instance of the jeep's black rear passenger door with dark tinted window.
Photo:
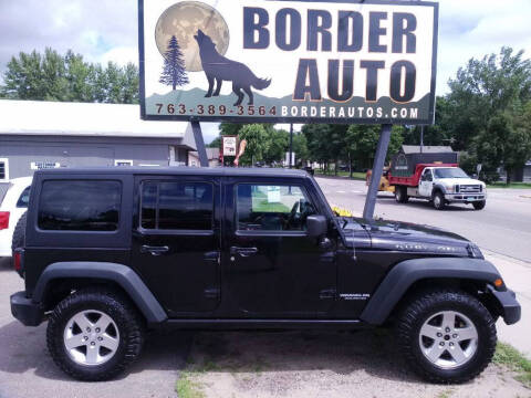
M220 188L215 177L137 177L132 263L169 316L219 303Z

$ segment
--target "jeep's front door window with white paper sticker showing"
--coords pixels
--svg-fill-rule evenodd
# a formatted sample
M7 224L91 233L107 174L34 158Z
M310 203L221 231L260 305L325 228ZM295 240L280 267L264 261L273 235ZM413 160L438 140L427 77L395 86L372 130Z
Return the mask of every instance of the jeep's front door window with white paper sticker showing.
M299 186L240 184L237 221L240 231L303 231L315 208Z

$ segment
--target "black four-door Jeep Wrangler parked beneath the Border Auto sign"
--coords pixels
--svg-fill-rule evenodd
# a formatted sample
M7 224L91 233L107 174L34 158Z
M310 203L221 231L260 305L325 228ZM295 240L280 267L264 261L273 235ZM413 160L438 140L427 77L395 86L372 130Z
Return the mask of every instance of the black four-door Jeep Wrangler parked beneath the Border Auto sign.
M12 314L48 320L54 362L83 380L122 371L160 326L389 324L417 373L460 383L491 360L496 320L520 318L477 245L336 217L305 171L42 170L21 220Z

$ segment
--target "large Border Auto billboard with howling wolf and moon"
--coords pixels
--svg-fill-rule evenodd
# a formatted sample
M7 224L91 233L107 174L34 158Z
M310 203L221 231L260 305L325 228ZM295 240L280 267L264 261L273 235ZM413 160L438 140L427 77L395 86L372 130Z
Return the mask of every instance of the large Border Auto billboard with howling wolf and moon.
M144 119L429 124L438 4L139 0Z

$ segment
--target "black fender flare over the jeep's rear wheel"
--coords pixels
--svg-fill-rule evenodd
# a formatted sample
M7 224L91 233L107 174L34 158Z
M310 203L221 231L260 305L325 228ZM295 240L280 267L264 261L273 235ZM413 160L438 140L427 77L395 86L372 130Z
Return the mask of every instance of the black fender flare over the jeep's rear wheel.
M135 271L123 264L110 262L69 261L50 264L39 277L32 302L35 304L42 302L53 280L72 277L112 281L118 284L136 304L148 324L158 324L168 318L160 303Z

